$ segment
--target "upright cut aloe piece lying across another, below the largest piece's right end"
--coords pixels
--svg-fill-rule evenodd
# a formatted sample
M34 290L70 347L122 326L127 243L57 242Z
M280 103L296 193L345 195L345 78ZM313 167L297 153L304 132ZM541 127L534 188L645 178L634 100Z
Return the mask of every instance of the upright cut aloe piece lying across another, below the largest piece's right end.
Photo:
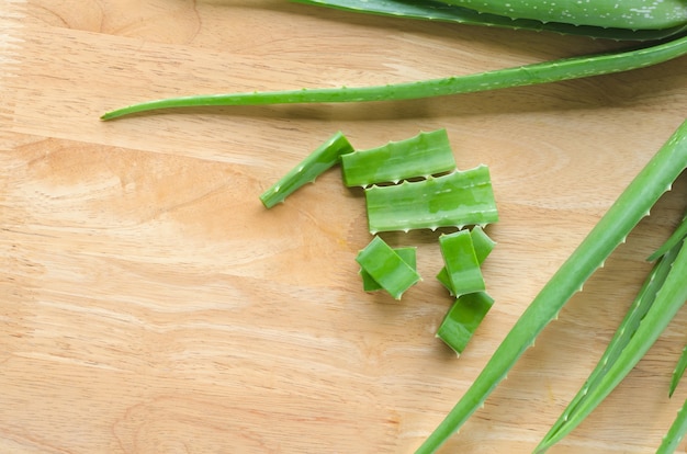
M486 290L469 230L439 237L451 293L458 297Z

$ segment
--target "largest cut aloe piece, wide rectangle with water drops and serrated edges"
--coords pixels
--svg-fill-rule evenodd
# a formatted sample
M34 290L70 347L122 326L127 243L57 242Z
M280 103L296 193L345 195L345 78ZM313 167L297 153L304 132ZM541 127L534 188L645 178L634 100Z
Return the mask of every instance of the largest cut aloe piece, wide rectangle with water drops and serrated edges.
M489 170L480 166L442 177L365 190L371 234L485 225L498 220Z

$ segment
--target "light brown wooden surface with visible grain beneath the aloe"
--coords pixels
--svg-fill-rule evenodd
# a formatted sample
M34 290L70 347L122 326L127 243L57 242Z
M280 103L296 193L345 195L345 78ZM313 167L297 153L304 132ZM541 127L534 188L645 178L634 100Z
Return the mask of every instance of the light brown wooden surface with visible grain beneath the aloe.
M687 113L687 59L630 73L369 105L194 109L171 95L387 83L619 44L368 18L286 0L0 1L0 452L409 453ZM457 359L451 299L360 287L364 198L333 170L258 195L336 130L358 148L448 129L492 169L496 304ZM443 452L528 453L584 382L685 208L675 184ZM650 453L687 314L552 453ZM685 450L685 445L680 445Z

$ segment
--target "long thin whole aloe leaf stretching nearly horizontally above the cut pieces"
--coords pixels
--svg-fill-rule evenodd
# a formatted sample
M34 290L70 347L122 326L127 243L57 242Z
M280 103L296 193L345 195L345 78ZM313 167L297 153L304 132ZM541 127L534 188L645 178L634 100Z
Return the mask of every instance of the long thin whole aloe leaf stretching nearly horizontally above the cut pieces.
M473 93L629 71L667 61L685 54L687 54L687 36L680 36L633 50L564 58L415 82L168 98L117 109L103 114L101 120L106 121L133 113L170 107L398 101Z

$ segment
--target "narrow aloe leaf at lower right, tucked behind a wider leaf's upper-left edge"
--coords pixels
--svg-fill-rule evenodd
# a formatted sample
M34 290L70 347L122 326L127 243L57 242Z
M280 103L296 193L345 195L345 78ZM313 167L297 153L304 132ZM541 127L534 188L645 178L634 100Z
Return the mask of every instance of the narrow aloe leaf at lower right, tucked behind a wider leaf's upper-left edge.
M567 408L563 411L561 417L551 427L549 433L544 436L544 440L552 438L561 430L561 428L570 424L571 421L575 424L578 423L576 420L576 411L579 408L579 405L594 395L592 391L600 386L601 378L605 377L609 371L616 367L617 361L621 357L622 352L630 343L630 340L637 332L642 319L644 319L646 313L654 304L658 291L663 287L680 246L682 245L678 243L676 247L668 250L668 252L653 265L651 272L644 280L642 288L638 292L632 306L620 322L618 330L606 348L606 351L601 355L598 364L592 374L589 374L589 377L586 379L579 391L577 391L575 397L567 405Z

